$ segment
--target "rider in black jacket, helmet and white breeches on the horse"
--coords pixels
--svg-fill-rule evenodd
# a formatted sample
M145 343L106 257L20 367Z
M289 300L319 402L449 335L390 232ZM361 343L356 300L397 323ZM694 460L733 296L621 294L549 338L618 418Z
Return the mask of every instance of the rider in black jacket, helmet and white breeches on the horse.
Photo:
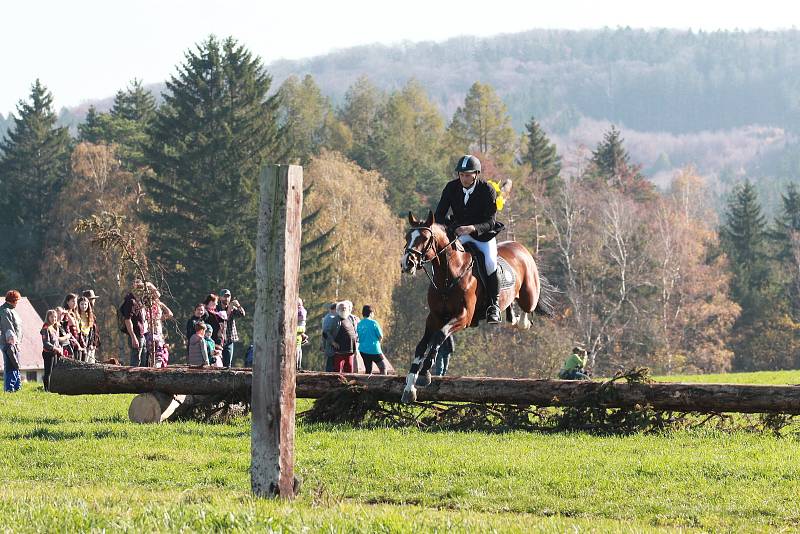
M447 182L436 207L436 221L444 223L447 212L453 211L450 226L462 243L473 243L482 253L488 274L489 307L486 322L500 322L500 284L497 280L497 240L503 225L496 222L497 193L480 178L481 162L472 155L458 158L456 179Z

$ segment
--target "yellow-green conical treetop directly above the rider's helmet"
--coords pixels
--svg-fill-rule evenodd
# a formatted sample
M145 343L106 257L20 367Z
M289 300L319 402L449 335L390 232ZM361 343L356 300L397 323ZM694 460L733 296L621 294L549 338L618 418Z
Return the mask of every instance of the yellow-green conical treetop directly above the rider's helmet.
M460 153L477 151L493 156L499 163L511 163L516 148L511 117L488 84L472 84L464 105L453 115L448 132L453 148Z

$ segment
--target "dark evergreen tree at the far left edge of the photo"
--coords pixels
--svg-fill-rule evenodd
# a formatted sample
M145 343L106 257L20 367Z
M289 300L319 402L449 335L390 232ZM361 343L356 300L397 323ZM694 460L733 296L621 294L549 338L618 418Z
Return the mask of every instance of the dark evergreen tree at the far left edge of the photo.
M10 282L32 287L42 255L47 213L67 175L70 138L56 126L53 96L39 80L20 101L13 128L0 141L0 256Z

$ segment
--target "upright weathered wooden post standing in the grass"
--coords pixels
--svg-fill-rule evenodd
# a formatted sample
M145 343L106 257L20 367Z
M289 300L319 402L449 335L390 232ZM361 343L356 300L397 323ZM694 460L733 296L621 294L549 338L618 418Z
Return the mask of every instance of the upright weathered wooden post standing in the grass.
M259 176L251 484L259 497L294 497L295 336L303 168Z

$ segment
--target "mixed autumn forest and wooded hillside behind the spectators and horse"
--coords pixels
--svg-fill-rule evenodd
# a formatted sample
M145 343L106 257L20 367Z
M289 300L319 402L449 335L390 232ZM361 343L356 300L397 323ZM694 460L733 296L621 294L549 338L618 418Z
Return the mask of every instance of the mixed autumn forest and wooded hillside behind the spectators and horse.
M207 293L229 287L252 309L256 178L266 163L297 163L305 178L300 292L313 340L304 361L320 367L313 325L328 303L350 299L356 310L374 307L386 354L403 367L422 333L427 286L424 277L400 276L404 217L435 208L456 159L474 153L488 178L513 181L498 216L507 227L500 239L535 254L559 288L559 306L554 319L537 318L528 331L459 334L454 374L552 376L575 343L589 348L598 375L633 366L672 374L800 365L800 191L792 166L782 164L788 179L772 182L766 210L758 172L743 167L720 188L718 176L698 169L703 162L687 160L662 166L657 186L652 165L636 159L626 137L628 127L683 132L760 122L784 132L780 158L791 162L791 95L800 86L787 77L759 84L797 61L795 32L780 39L694 34L690 47L680 32L579 33L583 39L572 47L552 45L563 43L563 33L524 35L519 49L503 36L403 49L424 51L432 65L461 43L456 59L469 61L440 78L457 78L465 89L445 105L442 95L456 93L417 72L395 71L391 87L359 76L342 89L326 75L268 68L232 37L211 36L188 49L160 94L134 79L108 110L90 107L74 134L35 80L3 119L0 282L40 312L69 291L93 288L101 297L101 351L115 355L116 307L132 273L78 227L91 217L122 221L156 266L164 300L178 316L169 341L183 356L183 320ZM619 44L631 41L640 46ZM369 58L381 50L361 52ZM395 56L383 52L389 68ZM512 52L527 58L524 65L546 70L558 60L571 67L539 76L498 60ZM348 53L355 54L339 54L341 65L359 65ZM609 58L617 65L621 55L632 70L609 70ZM522 99L508 91L513 80L483 75L497 65L544 85L528 84L535 97ZM663 69L676 65L686 66L685 83L658 83L659 76L674 81ZM759 74L741 74L751 72ZM571 84L573 76L585 83ZM567 98L546 85L555 79L585 93ZM720 91L733 79L740 89L764 92L736 93L746 105L731 96L730 109L740 113L728 114L720 111ZM716 107L704 100L711 94ZM616 122L590 144L562 146L564 130L553 117L581 98L588 107L575 108L570 130L587 124L581 117L590 117L589 108L606 109L598 116ZM598 108L596 98L607 107ZM626 115L615 102L648 112ZM250 324L240 330L246 343Z

